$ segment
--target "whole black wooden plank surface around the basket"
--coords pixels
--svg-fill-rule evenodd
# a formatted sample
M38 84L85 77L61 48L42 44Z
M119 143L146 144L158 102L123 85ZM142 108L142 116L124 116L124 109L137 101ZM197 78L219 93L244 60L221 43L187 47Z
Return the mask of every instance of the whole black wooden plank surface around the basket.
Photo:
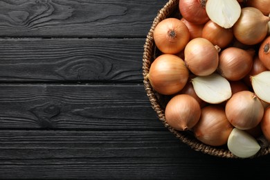
M166 2L0 0L0 179L269 177L270 156L196 152L157 118L141 67Z

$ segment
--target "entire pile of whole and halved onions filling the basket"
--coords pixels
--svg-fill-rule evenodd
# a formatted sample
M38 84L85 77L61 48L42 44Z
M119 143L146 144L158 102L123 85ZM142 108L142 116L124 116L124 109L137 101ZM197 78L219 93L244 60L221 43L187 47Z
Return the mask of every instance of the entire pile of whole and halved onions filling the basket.
M168 125L241 158L270 143L269 2L181 0L154 28L147 79Z

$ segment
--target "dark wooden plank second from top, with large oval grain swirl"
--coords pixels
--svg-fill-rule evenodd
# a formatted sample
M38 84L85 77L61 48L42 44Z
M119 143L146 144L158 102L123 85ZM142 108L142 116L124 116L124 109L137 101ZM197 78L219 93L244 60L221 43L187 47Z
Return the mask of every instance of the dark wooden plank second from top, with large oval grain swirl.
M144 38L0 39L0 81L142 82L144 43Z

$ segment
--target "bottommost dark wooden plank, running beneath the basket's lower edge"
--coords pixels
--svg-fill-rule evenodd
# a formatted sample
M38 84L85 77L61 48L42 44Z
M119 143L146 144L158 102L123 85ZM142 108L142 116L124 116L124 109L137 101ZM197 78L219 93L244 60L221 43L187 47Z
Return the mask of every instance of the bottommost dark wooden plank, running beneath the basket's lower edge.
M0 179L265 179L270 165L270 156L220 159L150 131L0 130L0 152Z

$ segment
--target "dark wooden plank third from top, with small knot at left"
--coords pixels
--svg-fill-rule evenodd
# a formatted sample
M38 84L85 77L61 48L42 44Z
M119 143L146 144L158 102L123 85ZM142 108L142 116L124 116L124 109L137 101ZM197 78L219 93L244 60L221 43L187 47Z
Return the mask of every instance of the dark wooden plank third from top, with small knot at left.
M0 129L164 129L142 84L0 84Z

